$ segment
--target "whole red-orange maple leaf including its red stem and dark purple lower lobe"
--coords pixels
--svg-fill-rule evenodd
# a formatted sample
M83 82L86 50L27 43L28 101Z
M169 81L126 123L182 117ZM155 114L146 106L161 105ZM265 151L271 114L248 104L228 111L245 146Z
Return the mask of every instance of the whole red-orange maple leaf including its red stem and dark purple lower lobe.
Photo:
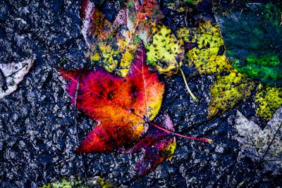
M103 68L59 70L60 75L69 80L66 91L71 96L71 103L75 105L76 99L77 108L99 123L76 151L120 149L121 153L133 153L142 150L136 166L137 176L145 175L165 158L173 156L176 148L173 134L210 142L174 133L168 115L161 116L160 125L152 123L161 107L164 84L159 82L157 73L150 72L145 62L145 46L141 43L126 77L112 75ZM148 125L151 126L147 132ZM145 132L147 134L142 137ZM124 149L130 146L131 149Z

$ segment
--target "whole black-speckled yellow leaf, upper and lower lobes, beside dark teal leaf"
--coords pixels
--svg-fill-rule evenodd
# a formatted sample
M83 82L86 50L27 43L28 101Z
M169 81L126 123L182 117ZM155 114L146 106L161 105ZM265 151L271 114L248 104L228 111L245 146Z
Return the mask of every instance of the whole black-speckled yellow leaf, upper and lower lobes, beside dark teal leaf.
M255 82L238 73L224 54L224 43L219 26L210 21L200 22L198 27L181 28L178 38L195 44L186 54L188 65L197 68L200 75L215 75L216 80L210 91L209 117L233 108L245 100L255 89Z

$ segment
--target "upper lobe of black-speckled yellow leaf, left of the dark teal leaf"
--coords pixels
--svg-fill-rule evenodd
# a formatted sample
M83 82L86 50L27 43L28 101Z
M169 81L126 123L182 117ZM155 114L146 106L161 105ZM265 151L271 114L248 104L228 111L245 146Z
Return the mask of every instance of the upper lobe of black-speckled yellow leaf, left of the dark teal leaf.
M225 49L219 26L207 22L199 23L198 27L183 27L178 30L178 38L184 42L192 42L197 46L186 54L188 65L195 66L200 74L219 73L225 69L226 56L221 53Z

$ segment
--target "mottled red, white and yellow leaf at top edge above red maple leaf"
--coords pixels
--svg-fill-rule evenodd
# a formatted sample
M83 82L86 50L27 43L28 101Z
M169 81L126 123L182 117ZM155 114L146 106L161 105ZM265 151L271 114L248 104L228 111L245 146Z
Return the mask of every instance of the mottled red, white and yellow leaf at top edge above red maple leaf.
M125 77L140 41L146 44L152 22L162 18L157 0L127 1L114 23L94 7L90 0L82 1L80 17L82 35L90 47L90 59L109 73Z

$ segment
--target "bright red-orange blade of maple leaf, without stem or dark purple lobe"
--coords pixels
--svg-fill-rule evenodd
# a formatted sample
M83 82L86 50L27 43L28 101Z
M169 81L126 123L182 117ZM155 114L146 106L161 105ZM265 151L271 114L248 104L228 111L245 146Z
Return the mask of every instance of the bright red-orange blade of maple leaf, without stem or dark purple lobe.
M147 131L161 107L164 84L157 73L146 65L146 51L140 44L126 77L117 77L102 68L97 70L63 70L70 80L66 91L75 104L75 91L80 78L77 108L85 111L99 125L87 135L76 151L112 151L130 146Z

